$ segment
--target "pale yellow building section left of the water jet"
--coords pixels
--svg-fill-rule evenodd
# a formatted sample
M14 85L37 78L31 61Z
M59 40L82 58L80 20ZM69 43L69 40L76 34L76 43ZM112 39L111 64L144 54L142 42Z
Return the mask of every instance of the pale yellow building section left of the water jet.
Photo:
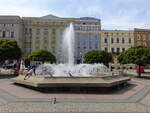
M44 17L23 17L24 25L24 55L33 50L47 50L55 56L61 51L62 34L67 22L53 15ZM57 58L58 59L58 58Z

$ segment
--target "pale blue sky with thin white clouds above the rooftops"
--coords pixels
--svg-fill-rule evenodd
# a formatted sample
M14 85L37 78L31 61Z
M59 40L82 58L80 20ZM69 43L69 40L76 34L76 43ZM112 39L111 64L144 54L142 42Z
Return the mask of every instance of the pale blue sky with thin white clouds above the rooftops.
M0 15L95 17L102 29L150 29L150 0L0 0Z

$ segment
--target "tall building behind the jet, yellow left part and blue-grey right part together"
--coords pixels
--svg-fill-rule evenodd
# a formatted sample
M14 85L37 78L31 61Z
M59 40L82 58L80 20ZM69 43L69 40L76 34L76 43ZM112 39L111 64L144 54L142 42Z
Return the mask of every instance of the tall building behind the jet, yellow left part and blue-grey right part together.
M101 23L95 18L59 18L53 15L44 17L23 17L24 55L33 50L44 49L52 52L58 62L62 59L62 37L72 22L75 30L75 62L82 62L84 53L100 49Z

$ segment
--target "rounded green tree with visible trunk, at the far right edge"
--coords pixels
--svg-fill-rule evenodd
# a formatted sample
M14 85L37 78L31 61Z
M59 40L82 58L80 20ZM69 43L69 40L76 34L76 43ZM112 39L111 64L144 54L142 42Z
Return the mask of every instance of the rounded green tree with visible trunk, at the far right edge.
M140 68L140 66L142 65L150 64L150 47L145 46L131 47L128 50L122 52L117 59L121 64L133 63L138 65ZM139 77L141 77L140 71L138 75Z

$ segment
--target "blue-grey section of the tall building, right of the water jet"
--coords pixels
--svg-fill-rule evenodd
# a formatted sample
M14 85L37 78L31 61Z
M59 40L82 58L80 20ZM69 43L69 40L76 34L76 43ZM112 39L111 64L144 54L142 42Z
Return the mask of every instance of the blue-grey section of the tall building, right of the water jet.
M100 50L101 21L96 18L83 17L74 20L75 27L75 61L82 62L83 55L91 50Z

